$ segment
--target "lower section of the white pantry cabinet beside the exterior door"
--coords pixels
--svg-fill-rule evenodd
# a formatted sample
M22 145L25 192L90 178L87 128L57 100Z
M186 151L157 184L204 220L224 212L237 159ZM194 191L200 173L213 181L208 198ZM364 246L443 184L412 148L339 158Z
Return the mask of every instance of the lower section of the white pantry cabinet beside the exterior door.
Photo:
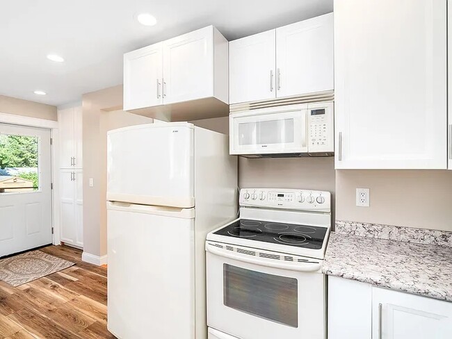
M83 247L83 172L60 169L60 239Z

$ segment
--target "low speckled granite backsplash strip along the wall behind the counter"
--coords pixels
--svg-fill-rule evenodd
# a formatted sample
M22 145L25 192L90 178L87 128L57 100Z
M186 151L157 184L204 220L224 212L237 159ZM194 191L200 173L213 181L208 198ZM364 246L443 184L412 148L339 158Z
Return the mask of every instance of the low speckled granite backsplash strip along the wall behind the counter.
M452 232L450 231L336 221L336 233L452 247Z

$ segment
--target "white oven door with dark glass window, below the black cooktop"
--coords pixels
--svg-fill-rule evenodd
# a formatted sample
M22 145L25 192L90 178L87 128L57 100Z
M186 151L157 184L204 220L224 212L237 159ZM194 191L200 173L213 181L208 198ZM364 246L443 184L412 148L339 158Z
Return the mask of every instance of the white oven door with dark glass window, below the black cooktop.
M207 324L243 339L324 339L325 276L207 245ZM306 271L303 271L304 266Z

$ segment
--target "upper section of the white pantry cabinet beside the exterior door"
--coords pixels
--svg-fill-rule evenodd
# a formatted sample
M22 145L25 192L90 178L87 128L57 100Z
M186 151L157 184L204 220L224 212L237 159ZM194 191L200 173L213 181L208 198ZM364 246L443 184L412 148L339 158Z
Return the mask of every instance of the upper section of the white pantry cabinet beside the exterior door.
M60 168L82 168L82 107L58 110Z

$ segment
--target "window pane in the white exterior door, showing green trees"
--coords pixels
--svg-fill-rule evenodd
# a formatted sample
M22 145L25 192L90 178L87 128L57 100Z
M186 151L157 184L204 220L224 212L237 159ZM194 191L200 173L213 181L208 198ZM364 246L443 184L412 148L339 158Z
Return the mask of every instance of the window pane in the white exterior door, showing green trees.
M0 134L0 193L39 190L39 138Z

